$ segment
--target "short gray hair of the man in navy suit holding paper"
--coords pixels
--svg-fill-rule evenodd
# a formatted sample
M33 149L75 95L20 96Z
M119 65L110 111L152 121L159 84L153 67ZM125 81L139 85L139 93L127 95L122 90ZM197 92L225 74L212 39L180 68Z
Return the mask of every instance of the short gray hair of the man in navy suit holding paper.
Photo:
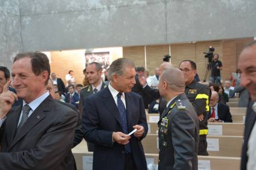
M113 80L114 75L123 75L125 67L135 68L134 62L128 58L118 58L109 67L109 79Z

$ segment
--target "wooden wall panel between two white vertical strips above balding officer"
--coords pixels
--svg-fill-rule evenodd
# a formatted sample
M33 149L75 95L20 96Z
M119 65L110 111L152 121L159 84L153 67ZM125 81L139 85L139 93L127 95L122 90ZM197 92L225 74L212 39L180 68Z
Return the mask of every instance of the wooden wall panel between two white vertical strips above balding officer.
M163 63L164 55L169 54L169 45L150 45L146 46L147 69L154 75L155 67Z

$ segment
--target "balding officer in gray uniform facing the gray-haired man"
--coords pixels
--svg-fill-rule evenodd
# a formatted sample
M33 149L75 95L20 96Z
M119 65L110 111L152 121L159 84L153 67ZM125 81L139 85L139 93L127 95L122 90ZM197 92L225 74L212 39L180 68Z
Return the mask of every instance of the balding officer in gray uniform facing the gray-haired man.
M167 69L160 76L158 88L168 101L158 122L158 169L197 169L199 121L184 94L183 74L175 68Z

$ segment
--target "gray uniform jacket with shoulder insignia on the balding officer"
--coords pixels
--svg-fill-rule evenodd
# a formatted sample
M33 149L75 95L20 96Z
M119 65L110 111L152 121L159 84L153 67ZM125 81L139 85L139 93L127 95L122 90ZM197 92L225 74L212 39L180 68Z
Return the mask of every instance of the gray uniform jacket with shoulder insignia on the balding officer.
M197 169L199 121L185 94L164 109L158 127L158 169Z

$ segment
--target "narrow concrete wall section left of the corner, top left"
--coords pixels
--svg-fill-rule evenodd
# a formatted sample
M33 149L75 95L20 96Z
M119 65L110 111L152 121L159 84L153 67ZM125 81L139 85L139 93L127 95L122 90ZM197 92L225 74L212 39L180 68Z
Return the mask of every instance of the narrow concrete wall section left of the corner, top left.
M0 65L9 69L13 57L22 51L19 1L0 0Z

